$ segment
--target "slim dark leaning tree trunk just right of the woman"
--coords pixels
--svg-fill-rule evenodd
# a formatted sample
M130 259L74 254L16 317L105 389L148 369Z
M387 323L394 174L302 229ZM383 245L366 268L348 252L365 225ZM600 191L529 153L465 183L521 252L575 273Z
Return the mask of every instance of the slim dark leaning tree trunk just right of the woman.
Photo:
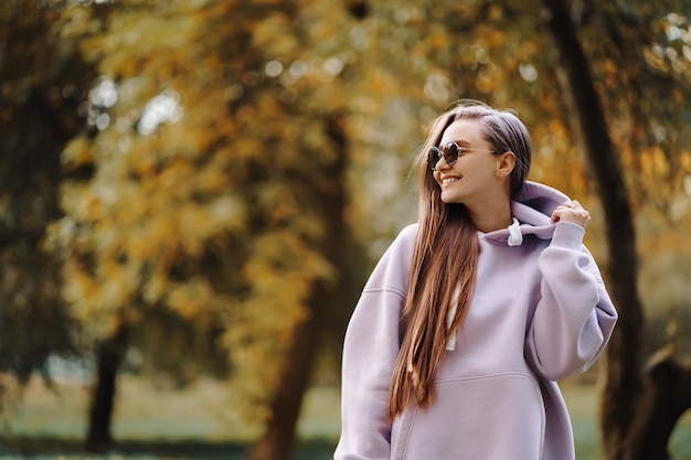
M605 212L608 289L619 322L607 346L600 429L608 460L621 460L642 387L642 308L637 289L636 238L626 185L617 164L588 62L564 0L543 0L574 128L583 139Z

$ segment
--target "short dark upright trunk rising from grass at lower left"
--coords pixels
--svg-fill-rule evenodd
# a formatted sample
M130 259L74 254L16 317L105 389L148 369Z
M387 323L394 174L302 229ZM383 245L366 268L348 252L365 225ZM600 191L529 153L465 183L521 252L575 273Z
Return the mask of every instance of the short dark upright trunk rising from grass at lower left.
M127 331L125 327L120 327L111 339L100 344L96 353L96 382L88 415L87 452L103 453L111 448L110 421L117 373L126 350Z

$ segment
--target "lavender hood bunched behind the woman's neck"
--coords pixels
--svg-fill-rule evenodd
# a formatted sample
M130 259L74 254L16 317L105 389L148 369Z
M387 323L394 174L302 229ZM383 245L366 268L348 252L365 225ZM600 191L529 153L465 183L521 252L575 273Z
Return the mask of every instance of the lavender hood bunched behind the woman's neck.
M487 233L483 237L495 243L509 244L509 246L519 246L523 235L551 239L554 233L554 224L551 223L552 212L566 201L570 201L570 197L556 189L525 181L521 192L511 201L513 224L510 227Z

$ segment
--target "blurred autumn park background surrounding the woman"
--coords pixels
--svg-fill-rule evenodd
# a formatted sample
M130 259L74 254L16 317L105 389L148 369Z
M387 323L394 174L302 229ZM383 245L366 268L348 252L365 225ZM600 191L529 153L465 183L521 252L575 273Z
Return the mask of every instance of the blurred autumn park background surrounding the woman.
M472 98L514 109L530 179L591 211L621 313L562 383L577 458L691 459L690 21L688 0L3 0L0 458L331 458L348 319L416 220L427 124Z

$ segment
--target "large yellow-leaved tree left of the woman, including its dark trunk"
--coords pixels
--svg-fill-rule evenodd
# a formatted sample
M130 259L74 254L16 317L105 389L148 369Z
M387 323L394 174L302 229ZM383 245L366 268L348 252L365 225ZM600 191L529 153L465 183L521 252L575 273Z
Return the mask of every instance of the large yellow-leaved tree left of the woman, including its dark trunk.
M280 407L299 408L333 286L346 163L341 99L322 85L336 74L307 64L304 31L289 20L299 8L125 1L65 10L61 33L78 39L100 73L89 132L63 152L67 172L93 174L63 183L65 216L51 240L72 311L103 351L91 450L110 443L125 338L158 309L221 325L237 406L287 424L273 451L285 454L293 439L297 410L285 421ZM299 65L277 78L290 62ZM286 360L291 347L298 373ZM294 387L283 387L286 375Z

